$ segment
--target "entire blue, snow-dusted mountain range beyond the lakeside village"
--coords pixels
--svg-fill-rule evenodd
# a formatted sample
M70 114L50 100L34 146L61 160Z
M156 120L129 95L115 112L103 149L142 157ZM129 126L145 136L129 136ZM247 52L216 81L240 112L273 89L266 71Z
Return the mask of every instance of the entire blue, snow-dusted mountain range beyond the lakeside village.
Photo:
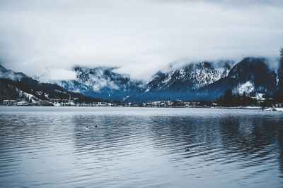
M273 70L268 64L266 58L252 57L243 58L238 63L188 63L181 68L171 68L166 72L158 71L149 82L132 80L129 75L117 73L117 68L79 66L73 69L76 79L53 80L50 84L42 84L23 73L13 73L3 67L0 68L0 77L6 82L25 82L21 87L16 87L33 95L42 90L46 94L81 94L118 101L164 101L169 98L172 101L214 101L227 89L239 94L246 92L250 96L276 92L278 82L282 78L277 75L279 71ZM31 85L34 85L35 89L32 89Z

